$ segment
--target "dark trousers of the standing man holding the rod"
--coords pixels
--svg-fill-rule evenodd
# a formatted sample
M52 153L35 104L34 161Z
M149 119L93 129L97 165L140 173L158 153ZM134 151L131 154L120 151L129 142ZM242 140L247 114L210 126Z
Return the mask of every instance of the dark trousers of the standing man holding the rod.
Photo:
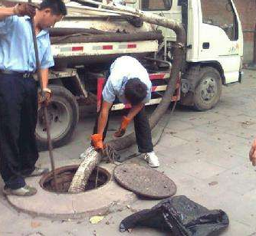
M38 147L38 89L32 77L0 74L0 161L8 188L25 185L22 175L34 171Z

